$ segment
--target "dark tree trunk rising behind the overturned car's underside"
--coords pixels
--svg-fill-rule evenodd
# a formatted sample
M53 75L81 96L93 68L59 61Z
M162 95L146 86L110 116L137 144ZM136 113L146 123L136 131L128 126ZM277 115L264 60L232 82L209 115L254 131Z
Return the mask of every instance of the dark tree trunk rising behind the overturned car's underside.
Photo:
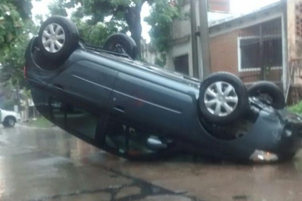
M128 8L125 13L125 19L129 26L131 37L133 38L133 40L137 45L137 59L141 59L140 39L141 39L142 27L141 27L140 12L143 2L144 1L137 3L135 7Z

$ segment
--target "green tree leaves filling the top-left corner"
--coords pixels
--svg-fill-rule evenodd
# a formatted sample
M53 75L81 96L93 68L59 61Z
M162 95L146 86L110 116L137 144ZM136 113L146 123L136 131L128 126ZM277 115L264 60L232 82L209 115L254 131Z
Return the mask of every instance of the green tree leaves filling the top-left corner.
M31 17L31 0L2 0L0 3L0 53L8 53L23 34L23 26ZM3 53L4 52L4 53ZM0 58L1 59L1 58ZM1 60L0 60L1 62Z

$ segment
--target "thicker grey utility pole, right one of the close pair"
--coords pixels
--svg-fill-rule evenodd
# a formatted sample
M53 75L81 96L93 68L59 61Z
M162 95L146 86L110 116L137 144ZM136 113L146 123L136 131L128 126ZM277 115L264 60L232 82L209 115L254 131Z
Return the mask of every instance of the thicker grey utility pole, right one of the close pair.
M194 0L191 0L194 1ZM200 18L200 45L201 45L201 64L202 77L205 78L211 73L210 63L210 45L209 45L209 27L207 18L207 0L199 0L199 18Z

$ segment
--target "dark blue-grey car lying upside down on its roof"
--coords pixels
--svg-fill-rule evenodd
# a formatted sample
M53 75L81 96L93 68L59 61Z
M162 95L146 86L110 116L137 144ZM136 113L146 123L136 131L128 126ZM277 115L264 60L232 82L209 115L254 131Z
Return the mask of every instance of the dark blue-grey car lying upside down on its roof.
M77 27L55 16L25 53L25 77L38 111L82 140L128 159L179 151L215 159L272 162L301 145L302 119L288 113L271 82L249 89L233 74L198 80L135 61L124 34L103 47L80 41Z

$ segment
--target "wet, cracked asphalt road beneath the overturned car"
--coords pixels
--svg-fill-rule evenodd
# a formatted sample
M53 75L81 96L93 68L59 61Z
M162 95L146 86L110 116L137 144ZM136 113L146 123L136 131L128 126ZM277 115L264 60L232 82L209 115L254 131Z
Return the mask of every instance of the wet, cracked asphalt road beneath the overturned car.
M276 165L131 162L54 129L0 127L0 200L302 200L302 152Z

